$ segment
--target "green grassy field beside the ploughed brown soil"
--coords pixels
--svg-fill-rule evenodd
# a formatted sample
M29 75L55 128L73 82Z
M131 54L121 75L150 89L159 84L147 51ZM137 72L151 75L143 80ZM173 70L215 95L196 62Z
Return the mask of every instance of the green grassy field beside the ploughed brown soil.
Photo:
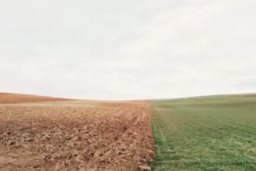
M256 96L155 101L153 107L153 170L256 170Z

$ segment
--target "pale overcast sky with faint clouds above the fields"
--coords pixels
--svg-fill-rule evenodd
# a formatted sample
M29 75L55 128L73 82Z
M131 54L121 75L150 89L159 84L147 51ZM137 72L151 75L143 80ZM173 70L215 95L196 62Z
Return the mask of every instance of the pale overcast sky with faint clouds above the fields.
M0 92L91 100L256 92L256 1L0 1Z

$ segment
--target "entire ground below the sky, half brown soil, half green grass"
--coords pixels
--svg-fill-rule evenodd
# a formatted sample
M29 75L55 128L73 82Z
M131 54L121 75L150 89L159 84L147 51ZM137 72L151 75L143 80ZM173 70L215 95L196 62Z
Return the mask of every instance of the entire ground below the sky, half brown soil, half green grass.
M0 103L1 171L256 170L255 94L97 102L0 93Z

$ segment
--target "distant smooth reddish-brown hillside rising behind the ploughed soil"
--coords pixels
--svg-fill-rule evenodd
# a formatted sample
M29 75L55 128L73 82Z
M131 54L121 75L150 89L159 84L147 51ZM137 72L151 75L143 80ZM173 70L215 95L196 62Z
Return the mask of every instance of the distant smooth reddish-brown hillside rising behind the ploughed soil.
M50 102L50 101L63 101L63 100L68 100L68 99L39 96L39 95L0 92L0 104L26 103L26 102Z

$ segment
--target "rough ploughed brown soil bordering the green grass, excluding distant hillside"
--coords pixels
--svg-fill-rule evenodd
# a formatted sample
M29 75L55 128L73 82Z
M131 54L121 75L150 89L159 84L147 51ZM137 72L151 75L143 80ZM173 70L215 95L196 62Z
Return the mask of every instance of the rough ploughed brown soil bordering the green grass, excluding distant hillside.
M0 104L0 170L149 169L151 112L149 102Z

